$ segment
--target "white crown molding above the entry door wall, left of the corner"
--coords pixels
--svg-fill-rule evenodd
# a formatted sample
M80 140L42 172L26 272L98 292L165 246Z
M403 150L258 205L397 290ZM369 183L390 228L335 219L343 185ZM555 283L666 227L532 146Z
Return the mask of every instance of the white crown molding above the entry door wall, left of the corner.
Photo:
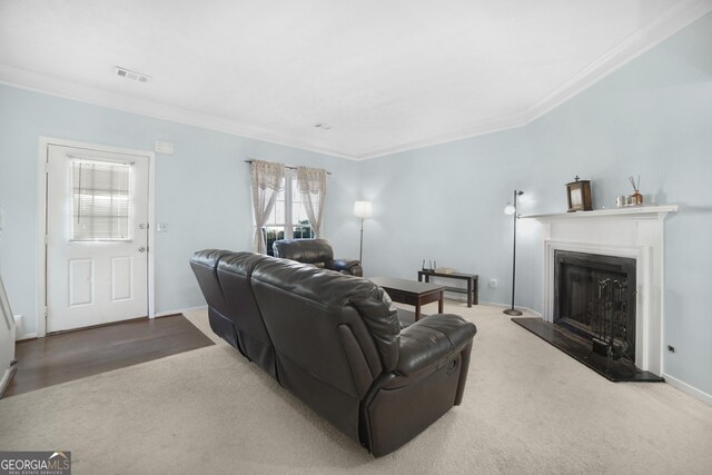
M355 154L343 152L307 141L294 140L269 130L225 119L208 113L196 112L179 107L168 106L132 96L109 92L98 88L78 85L72 81L40 75L33 71L0 65L0 83L34 92L47 93L63 99L77 100L93 106L107 107L123 112L137 113L154 119L168 120L187 126L225 132L243 138L267 141L285 147L328 155L332 157L355 160Z

